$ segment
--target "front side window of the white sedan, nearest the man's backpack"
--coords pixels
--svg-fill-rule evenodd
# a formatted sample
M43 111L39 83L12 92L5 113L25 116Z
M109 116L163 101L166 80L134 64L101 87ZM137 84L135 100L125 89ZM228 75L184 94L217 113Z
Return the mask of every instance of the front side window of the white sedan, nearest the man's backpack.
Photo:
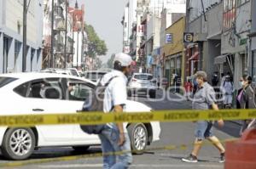
M89 99L92 92L92 87L87 83L79 81L67 81L67 99L84 101Z

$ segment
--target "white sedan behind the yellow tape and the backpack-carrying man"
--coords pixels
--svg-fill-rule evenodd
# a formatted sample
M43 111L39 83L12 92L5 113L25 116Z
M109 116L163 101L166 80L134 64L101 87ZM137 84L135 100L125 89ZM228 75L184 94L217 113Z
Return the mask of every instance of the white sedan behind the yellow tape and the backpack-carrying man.
M72 86L72 90L70 87ZM16 73L0 75L1 115L76 113L88 99L95 87L81 77L52 73ZM127 100L125 111L143 111L150 108ZM160 139L160 123L126 124L131 138L131 148L143 153L146 146ZM79 124L48 125L35 127L0 127L0 145L5 157L23 160L34 149L48 146L73 147L86 150L90 145L100 144L96 135L84 133Z

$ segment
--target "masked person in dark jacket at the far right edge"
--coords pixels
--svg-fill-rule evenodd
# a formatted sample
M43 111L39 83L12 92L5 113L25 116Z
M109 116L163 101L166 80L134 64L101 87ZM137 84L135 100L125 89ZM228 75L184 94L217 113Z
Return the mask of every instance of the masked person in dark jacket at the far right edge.
M241 109L255 109L255 91L252 87L253 78L252 76L244 75L240 79L241 82L241 90L238 91L237 94L237 107ZM240 135L244 132L247 128L253 127L255 123L255 119L247 119L243 121Z

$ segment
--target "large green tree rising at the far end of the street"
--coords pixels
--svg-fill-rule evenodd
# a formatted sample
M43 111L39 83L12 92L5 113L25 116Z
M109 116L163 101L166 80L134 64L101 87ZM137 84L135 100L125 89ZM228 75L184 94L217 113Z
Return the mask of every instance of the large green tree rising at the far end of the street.
M88 55L89 57L96 58L96 55L105 55L108 52L105 41L100 39L96 34L92 25L84 25L85 31L88 36Z

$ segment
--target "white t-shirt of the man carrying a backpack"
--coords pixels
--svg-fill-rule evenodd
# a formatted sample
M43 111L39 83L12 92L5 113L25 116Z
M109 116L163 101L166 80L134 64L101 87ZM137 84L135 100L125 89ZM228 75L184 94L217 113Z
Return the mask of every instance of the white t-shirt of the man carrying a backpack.
M113 80L108 84L108 87L105 90L103 100L103 111L105 113L109 113L115 105L125 106L127 100L127 77L121 71L112 70L108 74L104 75L101 80L102 85L105 85L113 76L117 77L113 78ZM124 132L126 132L125 126Z

